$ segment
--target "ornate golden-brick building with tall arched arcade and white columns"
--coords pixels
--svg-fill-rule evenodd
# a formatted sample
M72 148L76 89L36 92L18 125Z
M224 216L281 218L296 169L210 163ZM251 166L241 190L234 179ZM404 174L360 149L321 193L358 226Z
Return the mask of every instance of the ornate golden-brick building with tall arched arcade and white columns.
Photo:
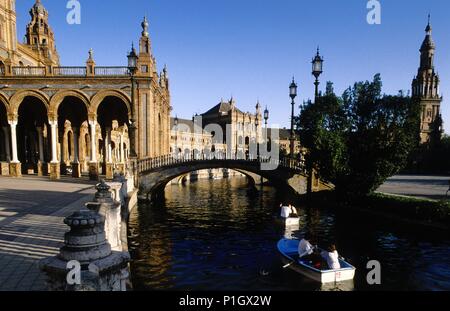
M128 157L168 154L169 78L158 74L147 19L133 66L96 66L91 50L86 64L64 67L40 0L30 15L19 44L15 0L0 0L1 174L110 178Z

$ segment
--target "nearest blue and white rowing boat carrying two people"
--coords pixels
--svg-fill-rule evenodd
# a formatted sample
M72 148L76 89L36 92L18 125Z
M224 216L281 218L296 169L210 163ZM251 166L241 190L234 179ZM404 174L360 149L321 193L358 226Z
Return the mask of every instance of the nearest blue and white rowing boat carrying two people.
M342 258L339 259L341 269L337 270L320 270L315 268L312 262L298 259L299 243L299 240L291 239L281 239L278 242L278 251L286 264L285 267L322 284L353 280L355 277L356 268Z

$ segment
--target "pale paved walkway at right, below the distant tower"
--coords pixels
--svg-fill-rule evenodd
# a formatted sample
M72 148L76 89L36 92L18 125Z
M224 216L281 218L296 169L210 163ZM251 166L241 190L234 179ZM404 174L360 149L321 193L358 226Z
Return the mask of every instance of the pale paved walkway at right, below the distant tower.
M443 200L450 177L398 175L390 178L378 191L416 198Z

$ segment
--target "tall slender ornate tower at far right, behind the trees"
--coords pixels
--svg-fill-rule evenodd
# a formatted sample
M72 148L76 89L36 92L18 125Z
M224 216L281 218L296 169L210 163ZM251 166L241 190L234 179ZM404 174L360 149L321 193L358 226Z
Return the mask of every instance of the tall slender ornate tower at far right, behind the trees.
M425 40L420 47L420 67L412 83L412 96L420 100L422 107L420 116L420 141L430 140L433 123L441 118L440 107L442 97L439 94L439 76L434 69L436 45L431 36L432 27L428 20L425 29Z

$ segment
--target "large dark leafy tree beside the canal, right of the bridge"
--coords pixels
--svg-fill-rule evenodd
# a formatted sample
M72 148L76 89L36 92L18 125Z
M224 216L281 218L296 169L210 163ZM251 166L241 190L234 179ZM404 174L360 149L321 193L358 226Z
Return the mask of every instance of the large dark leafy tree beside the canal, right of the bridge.
M341 97L327 92L297 118L306 163L349 198L375 191L407 162L419 139L419 104L381 94L381 78L358 82Z

